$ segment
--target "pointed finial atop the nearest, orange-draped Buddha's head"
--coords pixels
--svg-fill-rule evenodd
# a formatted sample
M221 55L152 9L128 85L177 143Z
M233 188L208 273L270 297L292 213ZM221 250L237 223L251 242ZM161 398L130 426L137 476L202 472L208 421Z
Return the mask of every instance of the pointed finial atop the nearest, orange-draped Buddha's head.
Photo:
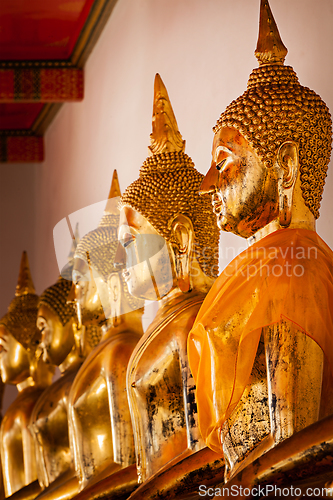
M259 36L257 48L254 52L259 61L259 66L263 64L283 64L287 53L288 50L283 45L268 0L261 0Z

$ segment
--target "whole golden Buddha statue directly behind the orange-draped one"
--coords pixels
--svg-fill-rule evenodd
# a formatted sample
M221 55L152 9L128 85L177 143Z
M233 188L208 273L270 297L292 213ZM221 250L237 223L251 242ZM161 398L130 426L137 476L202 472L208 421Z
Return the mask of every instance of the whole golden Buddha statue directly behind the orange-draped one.
M121 198L119 229L131 295L159 304L127 370L136 468L90 489L93 498L118 498L137 481L143 484L130 498L174 498L200 484L203 464L211 465L212 476L223 469L199 434L186 349L217 270L218 229L208 200L198 195L203 176L184 148L166 88L156 75L150 157ZM191 474L193 484L186 485Z

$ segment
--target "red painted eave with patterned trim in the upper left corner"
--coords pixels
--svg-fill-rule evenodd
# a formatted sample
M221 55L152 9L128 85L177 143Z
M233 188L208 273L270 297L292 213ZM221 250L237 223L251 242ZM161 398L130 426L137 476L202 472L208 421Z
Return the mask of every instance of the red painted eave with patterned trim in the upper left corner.
M84 97L83 65L117 0L0 0L0 162L43 161L62 103Z

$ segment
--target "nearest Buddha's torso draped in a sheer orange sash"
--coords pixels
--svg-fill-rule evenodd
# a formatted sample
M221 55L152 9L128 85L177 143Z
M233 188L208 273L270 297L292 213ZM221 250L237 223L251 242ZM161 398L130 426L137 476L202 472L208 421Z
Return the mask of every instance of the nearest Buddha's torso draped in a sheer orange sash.
M331 275L332 252L316 233L285 229L240 254L207 296L191 332L189 350L191 356L201 343L195 352L201 352L198 401L208 422L203 432L214 449L223 450L227 473L246 464L247 455L256 447L260 450L261 442L266 446L264 440L270 434L275 433L280 442L286 439L284 432L299 432L307 419L318 420L319 346L331 359ZM309 368L302 373L303 360L309 360ZM297 369L285 380L292 363ZM282 389L279 397L277 384ZM211 411L214 394L221 397ZM296 414L297 397L302 406ZM329 412L323 410L322 416ZM279 418L284 424L281 431ZM267 447L273 446L273 441L266 441Z

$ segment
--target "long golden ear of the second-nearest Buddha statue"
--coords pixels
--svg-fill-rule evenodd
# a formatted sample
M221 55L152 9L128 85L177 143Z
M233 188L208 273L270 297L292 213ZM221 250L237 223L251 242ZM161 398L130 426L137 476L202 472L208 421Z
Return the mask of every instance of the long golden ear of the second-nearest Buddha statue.
M192 290L191 262L193 245L193 224L186 215L179 214L169 221L171 244L175 257L178 287L183 293Z

